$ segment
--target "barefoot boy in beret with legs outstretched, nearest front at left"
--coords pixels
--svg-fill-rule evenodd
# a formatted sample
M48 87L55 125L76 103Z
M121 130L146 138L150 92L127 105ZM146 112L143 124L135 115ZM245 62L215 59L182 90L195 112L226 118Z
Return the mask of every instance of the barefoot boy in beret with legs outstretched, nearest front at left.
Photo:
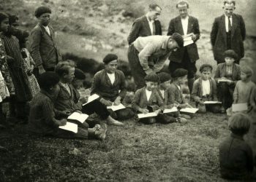
M59 138L95 138L105 139L106 132L97 124L94 128L82 129L78 127L78 132L62 130L59 126L64 126L67 119L56 119L59 112L53 106L58 93L59 76L47 71L39 76L40 92L31 100L29 114L29 130L31 132Z

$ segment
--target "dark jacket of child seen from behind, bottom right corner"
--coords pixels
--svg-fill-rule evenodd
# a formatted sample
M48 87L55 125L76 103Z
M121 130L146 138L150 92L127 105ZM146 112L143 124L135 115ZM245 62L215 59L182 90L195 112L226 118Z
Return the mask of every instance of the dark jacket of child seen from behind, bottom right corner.
M251 147L232 133L219 145L219 166L223 178L245 178L253 170Z

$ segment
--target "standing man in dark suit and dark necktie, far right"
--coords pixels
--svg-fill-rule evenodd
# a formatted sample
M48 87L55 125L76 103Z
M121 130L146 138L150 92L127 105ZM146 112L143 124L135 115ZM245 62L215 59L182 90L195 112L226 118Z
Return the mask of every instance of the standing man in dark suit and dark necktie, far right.
M234 50L238 55L235 63L244 57L244 39L246 30L241 15L234 14L236 1L224 1L225 14L215 18L211 30L211 44L214 50L214 60L217 63L225 63L223 53L225 50Z

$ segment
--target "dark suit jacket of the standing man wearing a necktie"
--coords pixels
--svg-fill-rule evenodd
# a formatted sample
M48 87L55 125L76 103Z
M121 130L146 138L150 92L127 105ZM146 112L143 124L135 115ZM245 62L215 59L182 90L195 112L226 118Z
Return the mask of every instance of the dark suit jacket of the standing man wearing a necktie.
M241 15L232 15L231 50L238 54L238 60L244 57L244 39L246 30L244 19ZM224 63L223 52L227 50L227 33L225 28L225 15L215 18L211 29L211 44L214 50L214 59Z

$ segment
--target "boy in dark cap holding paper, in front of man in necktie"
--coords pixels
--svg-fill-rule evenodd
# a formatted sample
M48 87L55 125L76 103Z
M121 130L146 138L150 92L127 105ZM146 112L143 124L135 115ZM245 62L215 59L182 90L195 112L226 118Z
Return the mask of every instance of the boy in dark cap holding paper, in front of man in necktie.
M225 113L233 103L233 92L236 82L240 80L240 66L234 63L237 59L236 52L226 50L224 52L225 63L219 63L215 71L214 79L217 83L217 94L222 102L221 112Z

